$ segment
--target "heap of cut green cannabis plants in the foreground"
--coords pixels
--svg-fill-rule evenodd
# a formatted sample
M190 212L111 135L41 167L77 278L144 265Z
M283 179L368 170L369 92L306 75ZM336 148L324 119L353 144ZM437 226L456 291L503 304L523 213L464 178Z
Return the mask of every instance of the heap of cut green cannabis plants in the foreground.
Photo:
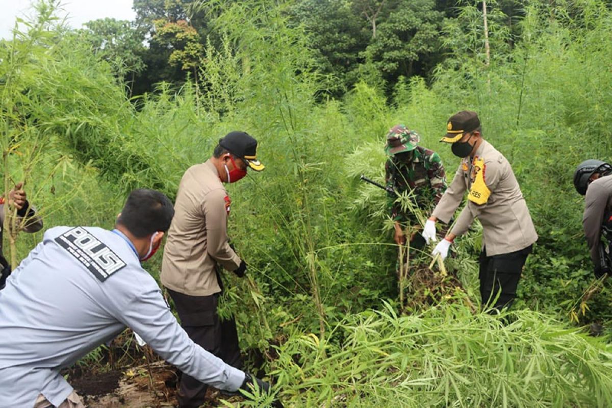
M422 314L347 316L340 344L294 335L275 363L293 406L606 407L612 349L545 314L473 315L440 305ZM283 389L283 388L281 388Z

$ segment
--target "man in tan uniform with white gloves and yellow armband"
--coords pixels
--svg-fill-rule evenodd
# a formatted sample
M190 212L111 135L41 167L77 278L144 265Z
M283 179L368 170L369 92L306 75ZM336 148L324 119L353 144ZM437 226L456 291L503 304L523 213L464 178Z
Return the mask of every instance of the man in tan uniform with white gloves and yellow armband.
M468 231L478 218L482 224L480 253L480 296L483 306L499 310L512 305L523 265L537 240L529 209L510 163L482 138L476 112L461 111L450 117L441 141L452 143L461 157L455 178L433 210L430 221L448 223L468 192L468 202L457 223L436 245L433 254L446 258L455 237ZM425 228L427 242L436 240L434 228Z

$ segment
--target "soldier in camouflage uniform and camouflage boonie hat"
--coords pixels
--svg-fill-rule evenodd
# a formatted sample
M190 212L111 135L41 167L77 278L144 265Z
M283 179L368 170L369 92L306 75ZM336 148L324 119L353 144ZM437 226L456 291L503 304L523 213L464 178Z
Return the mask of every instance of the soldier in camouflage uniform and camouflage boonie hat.
M412 190L416 205L427 214L446 191L446 174L439 155L418 146L419 140L419 134L405 125L395 125L389 130L385 146L389 157L385 164L385 179L386 187L400 194ZM395 223L395 243L404 245L406 228L417 231L420 226L414 214L403 211L396 199L397 196L389 193L387 206ZM412 233L410 246L421 249L425 240L420 234Z

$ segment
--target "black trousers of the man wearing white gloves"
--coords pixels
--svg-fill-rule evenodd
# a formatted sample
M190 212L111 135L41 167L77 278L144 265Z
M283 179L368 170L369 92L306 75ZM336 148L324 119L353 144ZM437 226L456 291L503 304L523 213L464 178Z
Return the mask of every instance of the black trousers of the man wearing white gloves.
M487 256L486 248L480 253L480 297L483 308L501 310L512 306L517 297L518 281L523 265L531 253L532 245L519 251Z

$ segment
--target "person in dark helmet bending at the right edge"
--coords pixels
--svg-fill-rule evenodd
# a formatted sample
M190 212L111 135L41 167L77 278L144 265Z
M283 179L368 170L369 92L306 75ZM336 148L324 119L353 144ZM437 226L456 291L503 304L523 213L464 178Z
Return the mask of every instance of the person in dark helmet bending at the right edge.
M610 274L612 261L610 245L602 242L602 235L612 239L612 166L605 161L584 160L574 172L574 187L584 197L582 224L589 246L594 273L600 278Z

